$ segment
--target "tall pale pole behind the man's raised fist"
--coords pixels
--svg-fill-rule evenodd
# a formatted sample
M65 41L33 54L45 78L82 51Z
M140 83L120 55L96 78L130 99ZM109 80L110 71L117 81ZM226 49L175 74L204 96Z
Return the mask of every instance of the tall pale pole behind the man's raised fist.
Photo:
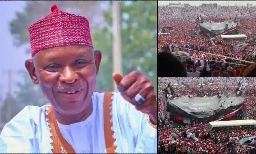
M113 54L113 69L114 72L122 74L122 56L121 56L121 32L120 32L120 12L119 1L112 1L112 17L113 17L113 42L112 42L112 54ZM115 82L113 83L113 89L118 91Z

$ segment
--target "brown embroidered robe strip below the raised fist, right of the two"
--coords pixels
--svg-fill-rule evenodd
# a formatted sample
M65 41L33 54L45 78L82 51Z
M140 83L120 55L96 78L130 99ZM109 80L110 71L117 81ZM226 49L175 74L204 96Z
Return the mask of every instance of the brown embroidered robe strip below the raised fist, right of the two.
M107 153L116 153L117 146L114 145L116 139L113 137L114 131L111 129L113 123L111 121L112 115L112 101L113 93L105 92L104 94L104 135Z

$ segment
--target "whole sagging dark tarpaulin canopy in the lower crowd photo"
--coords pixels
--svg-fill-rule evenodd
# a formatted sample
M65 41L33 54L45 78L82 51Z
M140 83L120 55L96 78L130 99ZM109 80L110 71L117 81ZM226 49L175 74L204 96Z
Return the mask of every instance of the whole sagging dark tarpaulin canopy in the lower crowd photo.
M182 96L168 100L167 112L180 115L195 120L219 119L219 117L229 114L243 106L241 96L222 96L224 106L220 107L217 95L211 97L192 97ZM231 103L232 101L232 103ZM214 114L214 111L216 113Z

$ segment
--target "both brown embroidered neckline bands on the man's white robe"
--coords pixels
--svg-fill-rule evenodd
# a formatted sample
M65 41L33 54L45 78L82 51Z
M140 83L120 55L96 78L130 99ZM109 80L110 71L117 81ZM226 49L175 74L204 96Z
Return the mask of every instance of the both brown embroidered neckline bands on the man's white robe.
M117 146L114 144L116 139L113 137L114 131L112 130L112 103L113 92L104 93L104 137L107 153L116 153ZM51 151L53 153L75 153L72 146L61 135L58 124L53 112L53 106L49 105L46 109L46 122L50 129L51 138Z

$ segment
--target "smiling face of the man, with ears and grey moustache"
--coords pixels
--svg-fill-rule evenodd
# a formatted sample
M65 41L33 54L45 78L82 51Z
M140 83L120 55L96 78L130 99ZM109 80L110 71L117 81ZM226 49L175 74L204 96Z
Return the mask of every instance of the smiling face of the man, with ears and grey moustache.
M73 115L90 102L100 60L91 47L69 45L41 50L25 66L54 109Z

